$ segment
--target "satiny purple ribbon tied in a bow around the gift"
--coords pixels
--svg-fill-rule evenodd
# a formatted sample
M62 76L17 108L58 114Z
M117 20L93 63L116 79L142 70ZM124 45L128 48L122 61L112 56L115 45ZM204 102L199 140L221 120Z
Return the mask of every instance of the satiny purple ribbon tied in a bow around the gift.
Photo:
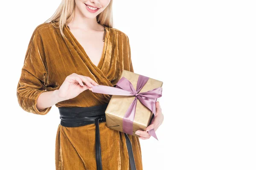
M150 91L140 93L140 90L144 87L144 85L148 82L148 77L139 75L137 82L137 90L134 89L131 82L122 77L116 83L116 87L110 87L105 85L93 85L92 92L100 93L100 94L110 94L110 95L121 95L121 96L135 96L133 102L125 112L123 117L123 132L128 133L130 135L133 134L133 122L136 112L137 99L145 105L148 109L150 109L155 116L156 113L156 101L158 97L162 96L162 88L154 88ZM154 118L153 118L154 119ZM152 121L153 122L153 121ZM157 139L157 135L154 129L148 131L148 133ZM157 139L158 140L158 139Z

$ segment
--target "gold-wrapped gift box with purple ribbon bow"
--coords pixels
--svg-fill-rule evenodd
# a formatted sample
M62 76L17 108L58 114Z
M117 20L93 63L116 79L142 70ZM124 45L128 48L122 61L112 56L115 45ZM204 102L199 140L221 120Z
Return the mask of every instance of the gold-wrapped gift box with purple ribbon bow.
M123 81L120 82L120 80ZM140 85L137 86L138 80L140 80ZM133 136L138 136L135 132L137 130L146 130L146 127L151 124L151 121L154 118L155 103L157 102L157 99L162 96L163 82L124 70L122 71L115 88L122 89L122 87L119 87L119 85L121 86L121 83L122 86L126 86L126 89L123 88L126 91L131 92L132 88L134 88L135 91L132 91L132 96L111 96L110 102L108 103L105 111L106 125L111 129L128 133ZM137 89L138 87L141 90ZM148 102L146 104L148 107L146 107L142 102L144 104L145 102ZM152 111L149 108L151 108ZM126 118L126 122L124 121L125 114L130 117ZM127 126L125 127L126 130L124 130L125 128L123 126ZM127 130L129 127L130 131ZM150 133L148 131L148 133L151 134L152 132Z

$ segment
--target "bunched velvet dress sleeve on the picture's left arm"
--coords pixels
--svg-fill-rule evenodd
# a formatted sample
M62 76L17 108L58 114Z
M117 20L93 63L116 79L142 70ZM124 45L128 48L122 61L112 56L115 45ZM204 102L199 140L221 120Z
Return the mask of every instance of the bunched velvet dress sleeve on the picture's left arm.
M37 27L29 41L17 85L18 103L29 113L45 115L52 108L52 106L41 110L36 108L38 96L45 92L47 87L48 74L45 63L44 45Z

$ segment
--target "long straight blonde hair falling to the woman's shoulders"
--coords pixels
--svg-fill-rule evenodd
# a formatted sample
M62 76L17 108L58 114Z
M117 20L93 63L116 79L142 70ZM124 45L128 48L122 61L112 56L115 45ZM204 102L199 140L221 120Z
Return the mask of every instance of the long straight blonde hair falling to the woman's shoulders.
M110 28L113 28L112 4L113 0L111 0L105 10L96 17L99 24ZM63 33L63 27L65 23L69 23L73 19L75 14L75 6L75 0L61 0L61 4L56 9L55 13L44 23L57 23L61 31L61 35L66 38Z

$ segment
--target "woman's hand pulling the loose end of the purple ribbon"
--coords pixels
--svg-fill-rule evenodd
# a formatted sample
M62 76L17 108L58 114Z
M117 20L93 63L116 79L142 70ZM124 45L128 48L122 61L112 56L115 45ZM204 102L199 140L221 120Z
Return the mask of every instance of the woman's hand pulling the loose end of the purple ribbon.
M85 83L85 85L83 84ZM66 77L61 87L58 89L58 97L63 100L73 99L81 92L89 89L92 85L99 85L90 77L79 75L76 73L70 74Z

